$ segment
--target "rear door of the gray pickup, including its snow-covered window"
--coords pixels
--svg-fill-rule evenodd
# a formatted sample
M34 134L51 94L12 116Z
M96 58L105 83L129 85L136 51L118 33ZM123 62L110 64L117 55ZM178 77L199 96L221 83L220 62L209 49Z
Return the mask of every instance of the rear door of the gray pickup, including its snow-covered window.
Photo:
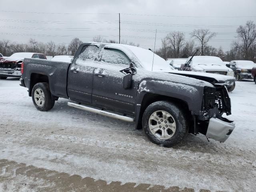
M92 79L99 50L97 46L86 45L74 58L68 71L68 96L71 100L92 103Z

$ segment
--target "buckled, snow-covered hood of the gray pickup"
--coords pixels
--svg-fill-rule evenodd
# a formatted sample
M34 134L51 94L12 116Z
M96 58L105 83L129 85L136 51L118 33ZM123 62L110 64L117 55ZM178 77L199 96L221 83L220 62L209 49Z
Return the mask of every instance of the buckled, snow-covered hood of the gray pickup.
M182 76L192 77L192 78L204 80L207 82L224 83L224 82L228 82L228 81L235 81L235 78L233 78L231 76L220 75L220 74L191 72L191 71L178 71L178 70L168 71L168 73L179 74Z

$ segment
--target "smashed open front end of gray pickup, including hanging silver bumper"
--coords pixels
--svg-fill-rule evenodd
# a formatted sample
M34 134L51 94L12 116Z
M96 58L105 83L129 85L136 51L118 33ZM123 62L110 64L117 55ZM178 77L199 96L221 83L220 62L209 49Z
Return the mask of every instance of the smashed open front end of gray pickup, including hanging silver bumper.
M225 86L205 87L202 111L194 115L194 133L225 142L235 128L235 123L222 117L231 114L231 103Z

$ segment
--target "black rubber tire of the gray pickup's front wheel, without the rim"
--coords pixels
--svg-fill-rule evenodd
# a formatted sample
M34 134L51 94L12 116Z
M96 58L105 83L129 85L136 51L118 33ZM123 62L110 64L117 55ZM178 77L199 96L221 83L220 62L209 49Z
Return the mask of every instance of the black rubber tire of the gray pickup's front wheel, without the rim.
M160 110L168 112L172 116L173 120L176 123L175 132L173 133L171 138L168 138L166 140L160 139L159 137L155 136L149 128L150 116L152 114L154 114L154 112L157 112ZM157 123L159 123L159 122L157 122ZM144 130L145 134L148 136L150 141L152 141L153 143L158 144L160 146L164 146L164 147L172 147L172 146L178 144L188 134L188 121L186 119L186 115L185 115L184 111L182 111L178 105L176 105L172 102L168 102L168 101L157 101L157 102L150 104L144 111L144 114L142 117L142 126L143 126L143 130ZM162 127L162 129L163 129L163 127ZM168 131L167 128L165 131L166 132Z

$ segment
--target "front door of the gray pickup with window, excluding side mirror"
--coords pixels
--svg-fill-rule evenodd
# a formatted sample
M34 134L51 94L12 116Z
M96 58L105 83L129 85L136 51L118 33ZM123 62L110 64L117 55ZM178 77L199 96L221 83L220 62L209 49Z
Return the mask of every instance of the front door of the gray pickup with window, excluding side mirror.
M138 85L133 81L132 88L125 90L123 88L125 74L120 72L129 68L131 60L124 52L117 49L104 48L101 54L100 65L94 70L92 104L120 112L134 112Z

